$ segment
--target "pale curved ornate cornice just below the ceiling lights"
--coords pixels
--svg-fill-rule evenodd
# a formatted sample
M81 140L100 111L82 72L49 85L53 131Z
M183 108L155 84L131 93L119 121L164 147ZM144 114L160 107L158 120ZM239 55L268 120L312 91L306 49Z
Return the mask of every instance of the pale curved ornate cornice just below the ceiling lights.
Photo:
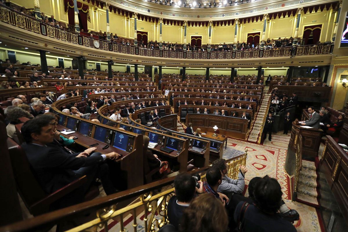
M238 6L212 8L183 8L143 0L106 0L116 7L130 12L136 12L149 17L161 17L171 20L229 20L252 17L256 15L275 13L299 7L321 5L337 2L337 0L256 0Z

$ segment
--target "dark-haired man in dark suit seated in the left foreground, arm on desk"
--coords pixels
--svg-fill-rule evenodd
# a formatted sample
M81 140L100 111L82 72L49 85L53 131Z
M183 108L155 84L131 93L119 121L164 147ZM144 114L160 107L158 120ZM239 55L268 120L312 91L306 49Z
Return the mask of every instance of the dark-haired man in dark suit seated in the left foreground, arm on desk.
M22 135L25 142L21 145L38 182L46 193L53 193L72 181L86 175L87 182L78 189L69 193L61 206L73 205L84 199L90 183L95 179L98 166L104 160L117 159L119 154L111 152L101 154L92 153L95 148L90 148L81 153L68 154L59 146L50 145L54 141L55 118L42 117L26 121L22 126ZM107 194L114 193L113 186L104 186Z

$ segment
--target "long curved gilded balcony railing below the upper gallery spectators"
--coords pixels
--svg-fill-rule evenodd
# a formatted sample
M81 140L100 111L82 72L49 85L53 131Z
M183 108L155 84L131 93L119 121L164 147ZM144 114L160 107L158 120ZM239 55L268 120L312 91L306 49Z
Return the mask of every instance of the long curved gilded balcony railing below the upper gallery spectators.
M39 33L50 38L78 44L95 49L113 51L117 53L125 53L131 55L140 55L148 57L164 57L173 59L249 59L261 57L282 57L290 55L322 55L329 54L333 48L333 44L328 45L310 45L281 48L266 48L253 50L234 50L234 51L174 51L142 48L131 45L122 45L115 42L108 42L92 37L85 37L78 33L59 29L58 27L42 23L41 21L22 14L18 11L10 9L6 6L0 6L0 20L4 23L22 28L27 31Z

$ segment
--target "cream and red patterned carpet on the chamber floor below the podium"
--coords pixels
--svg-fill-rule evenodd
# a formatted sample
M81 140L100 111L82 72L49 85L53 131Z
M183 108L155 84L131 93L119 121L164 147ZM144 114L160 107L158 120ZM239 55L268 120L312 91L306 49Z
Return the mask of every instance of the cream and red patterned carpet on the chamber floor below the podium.
M238 151L248 149L246 167L248 172L245 174L245 183L255 176L265 176L276 178L284 193L283 199L287 207L295 209L300 214L300 220L295 221L294 226L300 232L321 232L321 220L316 208L303 203L292 202L290 198L289 177L284 171L287 146L290 135L283 135L282 132L273 134L272 141L266 139L263 144L250 143L234 138L228 138L227 147ZM248 195L246 192L245 195Z

